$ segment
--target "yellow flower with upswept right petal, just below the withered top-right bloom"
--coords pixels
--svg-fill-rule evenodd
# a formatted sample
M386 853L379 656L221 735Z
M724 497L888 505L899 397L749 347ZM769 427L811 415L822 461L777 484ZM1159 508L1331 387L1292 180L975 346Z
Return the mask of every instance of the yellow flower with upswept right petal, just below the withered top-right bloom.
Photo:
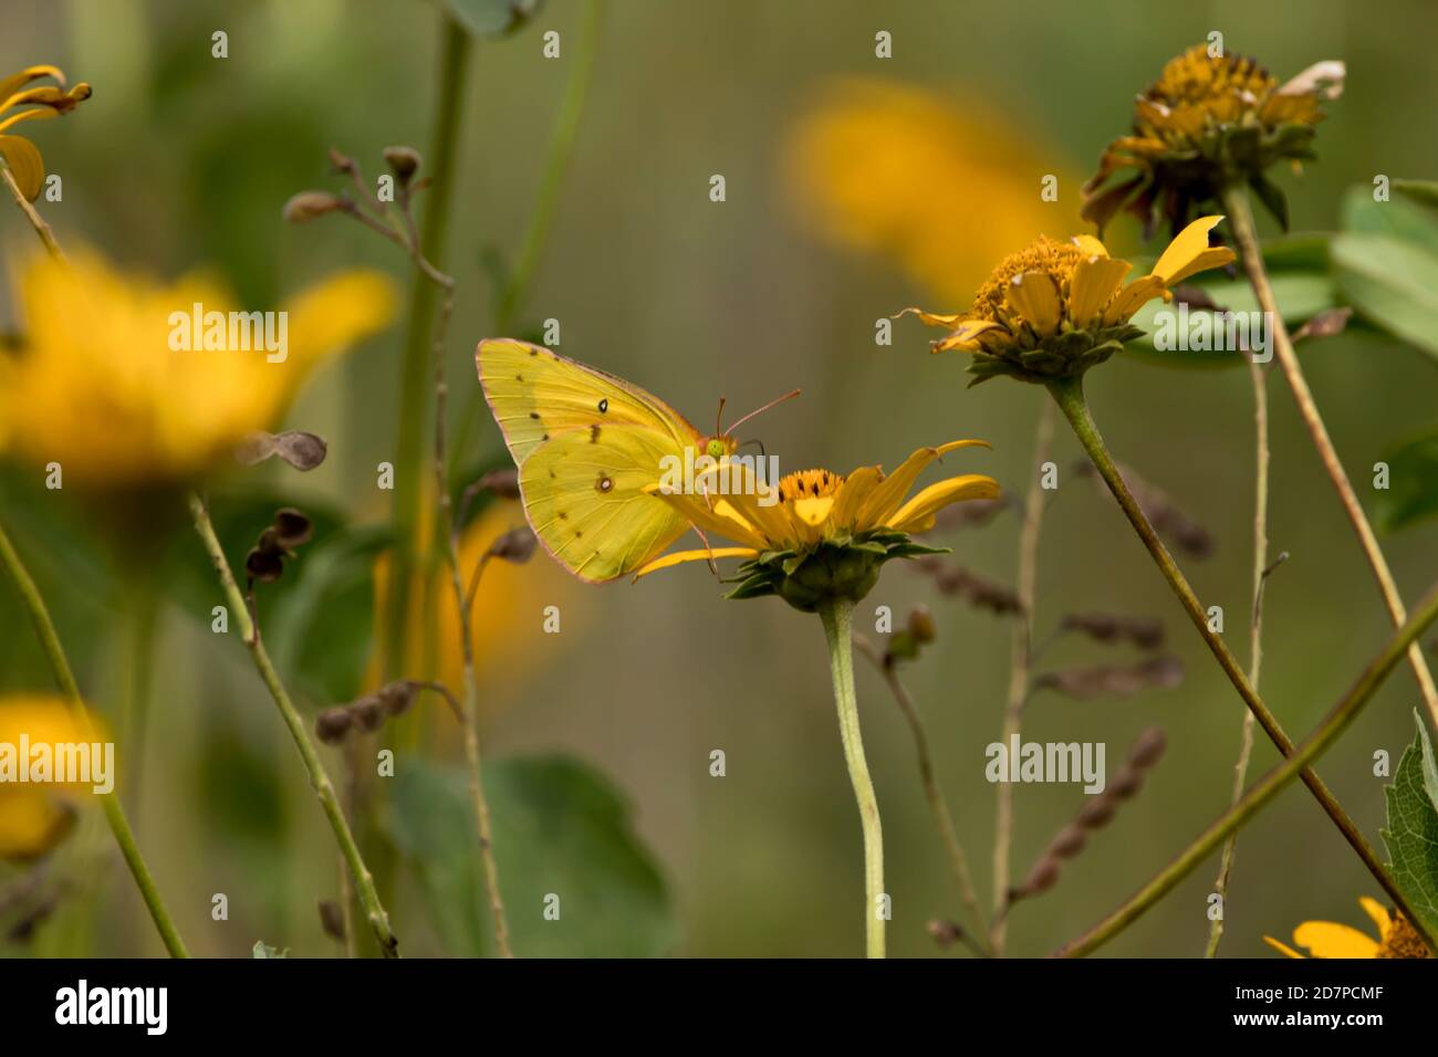
M900 315L913 312L929 326L948 329L933 351L972 354L972 385L1001 374L1037 384L1074 378L1142 334L1129 321L1143 305L1155 298L1169 301L1172 288L1191 275L1234 260L1232 250L1208 244L1219 220L1195 220L1163 250L1152 272L1127 285L1123 280L1133 265L1110 257L1093 236L1078 234L1066 243L1040 236L994 269L968 312L906 308Z

